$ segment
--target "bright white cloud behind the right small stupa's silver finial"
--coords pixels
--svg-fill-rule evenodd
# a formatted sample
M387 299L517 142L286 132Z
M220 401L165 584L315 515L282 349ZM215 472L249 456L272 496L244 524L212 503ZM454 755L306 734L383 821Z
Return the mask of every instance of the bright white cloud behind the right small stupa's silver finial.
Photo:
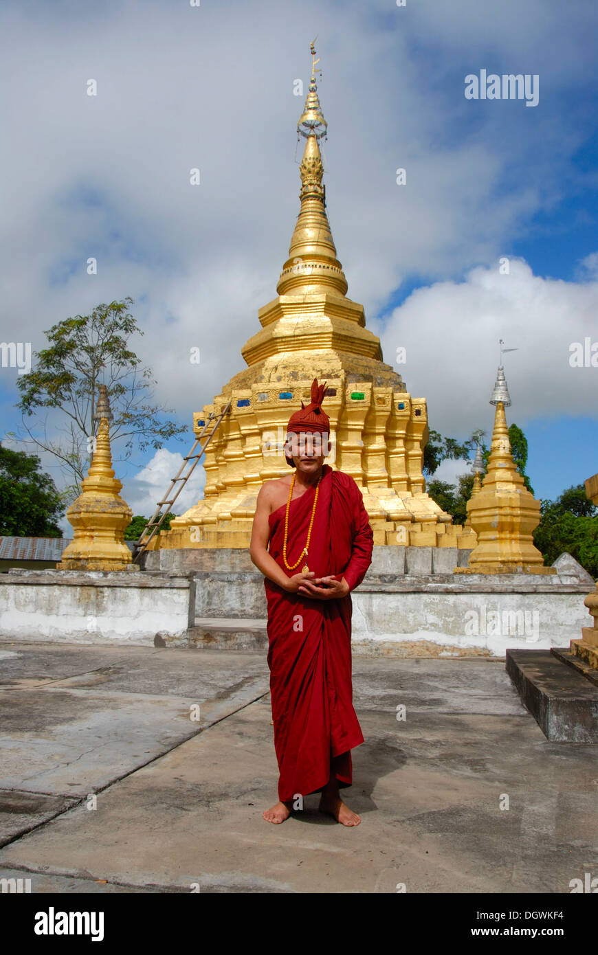
M406 349L406 363L395 368L414 397L427 398L431 428L452 436L484 428L491 435L500 338L517 349L503 358L509 422L597 414L591 395L598 368L569 364L571 343L598 341L597 314L598 281L541 278L513 259L508 275L497 261L472 269L464 282L417 289L378 333L389 364L397 347Z

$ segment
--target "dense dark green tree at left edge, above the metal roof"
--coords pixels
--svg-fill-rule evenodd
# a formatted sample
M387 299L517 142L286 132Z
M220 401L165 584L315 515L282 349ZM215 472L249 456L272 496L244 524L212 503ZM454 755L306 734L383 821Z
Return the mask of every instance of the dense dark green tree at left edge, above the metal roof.
M0 534L6 537L62 537L57 521L64 503L35 455L0 444Z

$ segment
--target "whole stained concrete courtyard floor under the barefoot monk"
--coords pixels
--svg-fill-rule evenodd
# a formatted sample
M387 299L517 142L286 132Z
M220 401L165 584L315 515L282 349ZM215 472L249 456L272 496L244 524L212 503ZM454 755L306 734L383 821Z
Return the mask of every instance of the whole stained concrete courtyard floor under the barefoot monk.
M32 892L569 893L598 876L598 749L547 742L504 662L353 658L352 829L318 796L262 818L263 653L2 643L0 674L0 878Z

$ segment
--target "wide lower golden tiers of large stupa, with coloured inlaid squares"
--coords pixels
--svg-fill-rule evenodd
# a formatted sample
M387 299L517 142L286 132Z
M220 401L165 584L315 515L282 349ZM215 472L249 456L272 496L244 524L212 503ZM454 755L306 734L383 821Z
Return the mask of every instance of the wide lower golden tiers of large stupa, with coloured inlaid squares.
M280 375L231 387L194 415L199 434L210 412L232 408L206 449L204 497L160 535L160 547L246 547L264 481L288 473L283 454L289 415L310 400L310 375L328 381L333 468L360 487L376 544L473 547L475 535L454 526L425 493L423 449L428 440L425 398L404 391L400 376L378 363L362 377L313 355L293 356L292 378ZM264 370L265 371L265 370ZM272 370L274 371L274 370ZM278 371L282 371L279 368ZM237 383L238 384L238 383Z

